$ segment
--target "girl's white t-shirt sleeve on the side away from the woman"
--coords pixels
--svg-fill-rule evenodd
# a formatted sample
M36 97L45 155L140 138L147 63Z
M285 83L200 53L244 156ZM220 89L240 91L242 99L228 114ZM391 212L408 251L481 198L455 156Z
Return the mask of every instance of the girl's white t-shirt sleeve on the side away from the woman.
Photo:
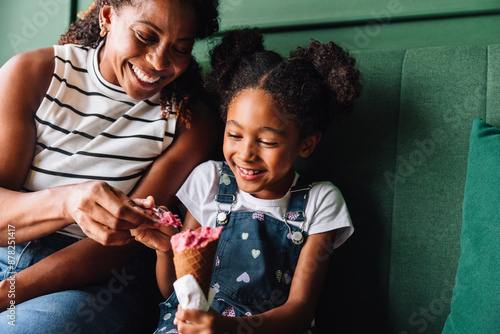
M330 182L318 182L313 185L309 191L306 217L309 217L309 234L337 231L333 248L342 245L354 232L344 197Z

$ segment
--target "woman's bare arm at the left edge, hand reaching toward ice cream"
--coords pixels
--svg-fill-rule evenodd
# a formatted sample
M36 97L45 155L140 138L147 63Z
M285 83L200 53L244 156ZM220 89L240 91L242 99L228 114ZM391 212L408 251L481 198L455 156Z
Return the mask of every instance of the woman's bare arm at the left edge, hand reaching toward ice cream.
M19 54L0 69L0 246L7 245L9 225L21 244L74 222L102 244L126 244L128 230L150 220L104 182L19 192L35 151L35 113L53 70L53 48Z

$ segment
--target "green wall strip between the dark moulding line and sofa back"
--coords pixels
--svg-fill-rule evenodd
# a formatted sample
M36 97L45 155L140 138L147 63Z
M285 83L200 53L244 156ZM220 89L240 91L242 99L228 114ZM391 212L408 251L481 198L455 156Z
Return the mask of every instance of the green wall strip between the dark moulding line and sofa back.
M265 34L268 48L287 56L311 38L334 41L351 51L399 50L434 46L488 45L500 43L500 14L304 29ZM213 41L199 41L194 54L204 67Z

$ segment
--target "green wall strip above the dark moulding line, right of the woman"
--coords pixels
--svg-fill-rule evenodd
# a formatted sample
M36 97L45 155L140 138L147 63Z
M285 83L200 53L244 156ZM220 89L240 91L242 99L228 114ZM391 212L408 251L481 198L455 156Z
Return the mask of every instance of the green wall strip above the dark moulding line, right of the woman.
M498 0L221 0L223 29L352 24L500 11Z

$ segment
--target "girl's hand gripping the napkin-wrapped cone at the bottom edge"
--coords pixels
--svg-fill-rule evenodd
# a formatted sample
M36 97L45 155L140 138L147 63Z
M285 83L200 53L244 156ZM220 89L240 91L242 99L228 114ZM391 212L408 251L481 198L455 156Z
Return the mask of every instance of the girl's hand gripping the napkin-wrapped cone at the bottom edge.
M222 333L222 315L212 308L208 312L184 310L180 305L175 314L174 325L180 334L214 334Z

